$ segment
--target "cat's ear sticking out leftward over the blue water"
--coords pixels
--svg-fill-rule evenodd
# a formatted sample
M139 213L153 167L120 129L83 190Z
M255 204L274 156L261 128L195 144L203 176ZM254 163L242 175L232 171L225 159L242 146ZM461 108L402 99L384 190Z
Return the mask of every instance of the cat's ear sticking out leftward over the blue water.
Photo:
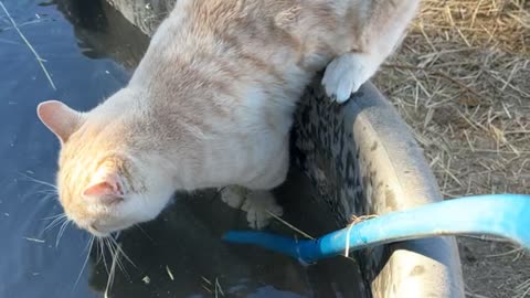
M83 116L57 100L41 103L36 107L41 121L64 143L81 126Z

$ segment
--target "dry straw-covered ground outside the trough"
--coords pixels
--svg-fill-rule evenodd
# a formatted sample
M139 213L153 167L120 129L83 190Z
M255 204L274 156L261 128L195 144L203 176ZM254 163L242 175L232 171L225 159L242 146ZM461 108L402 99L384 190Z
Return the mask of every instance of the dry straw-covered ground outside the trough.
M529 193L530 1L424 0L374 77L411 126L446 198ZM466 295L530 297L530 254L459 238Z

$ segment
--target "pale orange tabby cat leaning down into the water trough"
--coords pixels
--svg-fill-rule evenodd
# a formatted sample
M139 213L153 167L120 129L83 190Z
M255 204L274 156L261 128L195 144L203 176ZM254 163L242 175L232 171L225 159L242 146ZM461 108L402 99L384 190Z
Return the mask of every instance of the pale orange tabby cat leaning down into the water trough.
M70 220L97 236L155 219L176 190L262 227L288 168L295 104L319 70L338 103L399 43L417 0L178 0L130 83L87 113L39 105L62 143ZM329 65L328 65L329 64Z

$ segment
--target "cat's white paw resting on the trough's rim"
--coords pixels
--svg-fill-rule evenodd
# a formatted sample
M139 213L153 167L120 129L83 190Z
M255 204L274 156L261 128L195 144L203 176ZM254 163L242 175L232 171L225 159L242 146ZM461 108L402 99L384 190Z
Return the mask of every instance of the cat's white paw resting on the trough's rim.
M347 102L373 74L371 64L367 54L348 53L336 57L324 74L326 94L339 104Z

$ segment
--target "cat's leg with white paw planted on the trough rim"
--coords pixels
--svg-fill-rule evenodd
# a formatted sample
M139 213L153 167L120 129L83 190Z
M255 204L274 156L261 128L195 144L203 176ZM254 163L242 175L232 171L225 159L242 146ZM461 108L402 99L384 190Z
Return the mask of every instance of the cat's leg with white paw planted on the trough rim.
M356 51L336 56L322 78L327 95L337 103L348 100L398 47L418 4L418 0L344 1L352 6L349 21L357 24L350 32L352 44L342 51Z

